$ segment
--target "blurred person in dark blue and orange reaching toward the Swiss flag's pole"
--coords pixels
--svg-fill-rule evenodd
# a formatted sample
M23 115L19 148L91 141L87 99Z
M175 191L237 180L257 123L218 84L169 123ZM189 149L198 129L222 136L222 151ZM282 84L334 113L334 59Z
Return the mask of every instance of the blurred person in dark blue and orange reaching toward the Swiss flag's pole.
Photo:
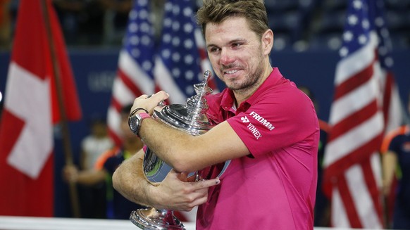
M142 207L121 196L118 191L113 189L111 182L112 174L118 165L142 149L141 139L130 132L128 127L130 108L131 105L125 106L121 110L122 146L116 146L102 153L95 162L94 167L90 169L79 171L73 165L68 165L63 169L63 176L66 181L87 186L106 182L106 217L108 219L129 219L132 210Z

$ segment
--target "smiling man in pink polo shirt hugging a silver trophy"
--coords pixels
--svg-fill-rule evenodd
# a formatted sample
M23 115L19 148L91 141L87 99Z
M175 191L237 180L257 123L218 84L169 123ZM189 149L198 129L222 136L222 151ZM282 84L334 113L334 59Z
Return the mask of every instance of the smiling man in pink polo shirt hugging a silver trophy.
M263 1L204 1L197 17L228 87L206 98L217 125L191 136L149 117L166 92L136 98L131 116L143 118L135 133L175 172L151 185L137 153L116 170L114 187L152 207L199 205L197 229L313 229L318 119L309 97L269 63L273 32ZM226 160L219 179L206 177ZM197 170L208 179L189 182L186 173Z

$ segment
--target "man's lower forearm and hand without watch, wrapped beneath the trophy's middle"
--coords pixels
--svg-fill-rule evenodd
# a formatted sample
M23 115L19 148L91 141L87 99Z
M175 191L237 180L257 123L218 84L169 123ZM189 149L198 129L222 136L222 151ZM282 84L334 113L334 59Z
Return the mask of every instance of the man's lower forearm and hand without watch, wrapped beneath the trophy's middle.
M189 182L187 174L171 170L158 184L151 184L144 176L139 151L125 160L113 174L113 186L132 202L159 209L190 211L192 207L205 203L208 188L219 184L219 179Z

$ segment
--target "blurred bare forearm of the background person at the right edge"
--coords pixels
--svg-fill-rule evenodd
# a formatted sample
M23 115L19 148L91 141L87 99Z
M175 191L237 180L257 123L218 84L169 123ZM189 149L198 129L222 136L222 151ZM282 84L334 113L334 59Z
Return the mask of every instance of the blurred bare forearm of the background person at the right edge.
M382 155L383 167L383 194L387 196L390 193L395 170L397 167L397 155L392 151L387 151Z

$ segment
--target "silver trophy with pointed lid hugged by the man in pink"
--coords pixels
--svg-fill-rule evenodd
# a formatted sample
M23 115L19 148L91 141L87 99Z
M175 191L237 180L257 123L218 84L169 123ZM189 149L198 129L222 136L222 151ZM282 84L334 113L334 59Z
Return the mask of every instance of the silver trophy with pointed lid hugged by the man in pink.
M194 84L196 95L188 98L185 105L173 104L156 108L153 113L154 119L193 136L199 136L211 129L212 124L205 115L208 109L205 96L212 92L208 87L210 77L211 72L204 72L204 81ZM227 166L227 163L225 165ZM171 167L149 148L145 151L143 167L148 181L153 183L163 181L171 170ZM198 172L193 173L198 180ZM154 207L139 209L132 211L130 220L141 229L185 229L182 222L173 215L173 210L159 210Z

